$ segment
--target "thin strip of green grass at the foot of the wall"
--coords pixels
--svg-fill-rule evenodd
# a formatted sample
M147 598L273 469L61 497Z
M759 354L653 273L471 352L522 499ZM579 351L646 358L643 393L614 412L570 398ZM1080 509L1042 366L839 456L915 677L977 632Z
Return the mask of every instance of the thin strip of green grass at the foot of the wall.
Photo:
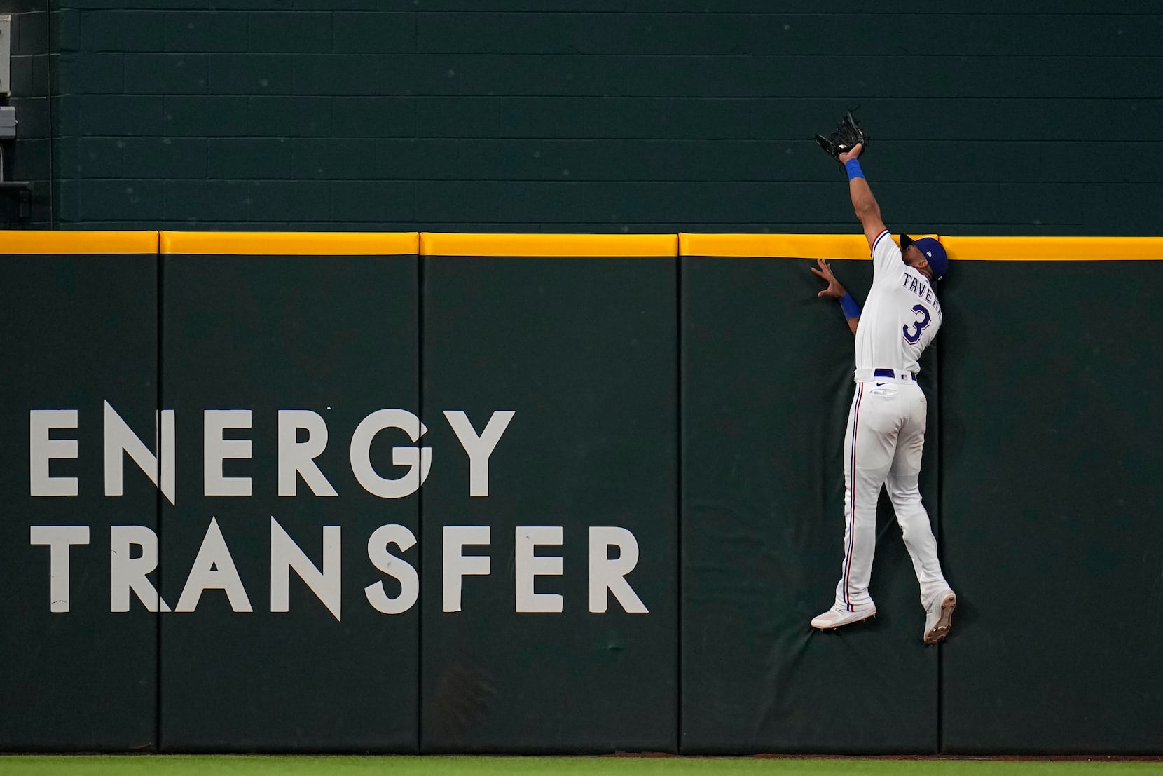
M830 757L451 757L306 755L0 755L2 776L716 776L916 774L1034 776L1163 773L1160 761L841 760Z

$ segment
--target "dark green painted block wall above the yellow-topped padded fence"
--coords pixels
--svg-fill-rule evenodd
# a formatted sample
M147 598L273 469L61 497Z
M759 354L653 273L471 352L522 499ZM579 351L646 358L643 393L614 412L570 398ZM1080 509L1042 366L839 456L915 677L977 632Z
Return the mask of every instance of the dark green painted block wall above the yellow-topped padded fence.
M1146 0L52 1L63 228L1163 229Z

